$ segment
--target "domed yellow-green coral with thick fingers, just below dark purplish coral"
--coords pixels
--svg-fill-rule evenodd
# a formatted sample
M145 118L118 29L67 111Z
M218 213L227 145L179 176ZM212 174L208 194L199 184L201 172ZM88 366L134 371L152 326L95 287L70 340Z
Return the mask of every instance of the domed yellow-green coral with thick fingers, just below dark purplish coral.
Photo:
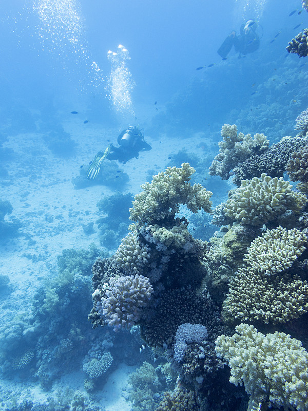
M287 209L300 211L306 196L292 191L292 185L282 177L265 173L252 180L242 180L240 188L225 203L224 213L242 224L262 226Z

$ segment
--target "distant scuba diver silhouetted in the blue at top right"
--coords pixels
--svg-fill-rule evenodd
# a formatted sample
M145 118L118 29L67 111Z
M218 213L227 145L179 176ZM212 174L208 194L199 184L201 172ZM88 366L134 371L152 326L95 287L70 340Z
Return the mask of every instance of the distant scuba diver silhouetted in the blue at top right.
M236 52L239 52L239 58L241 57L241 54L246 55L258 50L260 39L257 33L257 27L257 22L254 20L247 20L245 24L241 25L239 35L236 35L236 31L233 30L217 50L220 57L225 59L229 51L232 49L232 46L234 46Z

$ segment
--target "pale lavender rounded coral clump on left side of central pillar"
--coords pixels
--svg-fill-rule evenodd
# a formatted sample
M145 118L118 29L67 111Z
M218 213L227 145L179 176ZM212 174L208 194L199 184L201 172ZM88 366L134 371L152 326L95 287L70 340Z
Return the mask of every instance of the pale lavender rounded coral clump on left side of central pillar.
M99 315L117 331L121 327L130 328L140 320L141 310L149 305L152 293L149 279L137 274L110 278L109 283L93 294L94 297L100 294Z

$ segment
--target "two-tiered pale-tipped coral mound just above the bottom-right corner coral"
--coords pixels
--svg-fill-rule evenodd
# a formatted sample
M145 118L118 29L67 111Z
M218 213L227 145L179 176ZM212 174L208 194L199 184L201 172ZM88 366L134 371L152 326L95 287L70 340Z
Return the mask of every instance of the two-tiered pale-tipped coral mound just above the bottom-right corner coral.
M284 323L308 311L308 284L288 270L306 246L307 236L297 229L278 227L256 238L230 279L225 317Z

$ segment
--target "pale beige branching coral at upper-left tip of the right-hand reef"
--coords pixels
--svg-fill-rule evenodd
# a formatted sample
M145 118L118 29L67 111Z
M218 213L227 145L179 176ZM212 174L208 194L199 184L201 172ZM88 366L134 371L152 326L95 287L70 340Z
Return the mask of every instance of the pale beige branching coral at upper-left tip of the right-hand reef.
M264 134L237 133L235 124L224 124L221 129L223 141L218 143L219 154L209 167L208 174L220 176L223 180L230 177L230 171L238 164L246 160L252 154L260 154L268 147L268 140Z

